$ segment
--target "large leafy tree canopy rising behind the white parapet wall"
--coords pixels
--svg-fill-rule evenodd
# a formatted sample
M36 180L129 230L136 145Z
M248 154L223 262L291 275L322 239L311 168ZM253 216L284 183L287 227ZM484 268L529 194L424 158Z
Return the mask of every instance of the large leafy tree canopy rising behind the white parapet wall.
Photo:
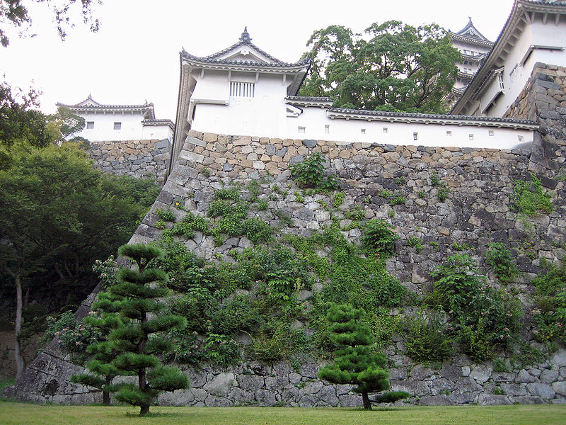
M316 30L300 96L329 96L337 108L444 113L460 53L437 24L373 23L369 40L344 26Z

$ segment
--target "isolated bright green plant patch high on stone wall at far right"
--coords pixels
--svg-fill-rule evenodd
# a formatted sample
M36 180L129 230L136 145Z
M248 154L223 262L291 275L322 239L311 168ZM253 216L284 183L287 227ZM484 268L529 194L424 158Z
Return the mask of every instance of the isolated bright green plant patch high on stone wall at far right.
M549 193L543 193L541 180L531 174L531 181L521 179L513 182L511 196L511 209L519 214L535 217L539 212L548 214L553 212L555 206Z

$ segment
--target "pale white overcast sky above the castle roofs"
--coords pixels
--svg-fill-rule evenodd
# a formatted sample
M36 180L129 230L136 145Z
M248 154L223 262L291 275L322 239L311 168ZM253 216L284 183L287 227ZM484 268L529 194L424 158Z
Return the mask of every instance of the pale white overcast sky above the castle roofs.
M100 103L147 100L154 103L156 118L175 120L180 50L210 55L237 42L244 26L262 50L296 62L311 33L332 24L361 33L371 23L396 19L415 26L435 22L458 31L471 16L480 33L495 40L512 4L513 0L105 0L93 8L100 31L89 33L78 25L69 30L65 42L59 40L45 4L32 4L30 33L37 35L18 38L10 30L10 46L0 47L0 72L12 86L42 91L42 110L48 113L57 101L79 103L92 93Z

